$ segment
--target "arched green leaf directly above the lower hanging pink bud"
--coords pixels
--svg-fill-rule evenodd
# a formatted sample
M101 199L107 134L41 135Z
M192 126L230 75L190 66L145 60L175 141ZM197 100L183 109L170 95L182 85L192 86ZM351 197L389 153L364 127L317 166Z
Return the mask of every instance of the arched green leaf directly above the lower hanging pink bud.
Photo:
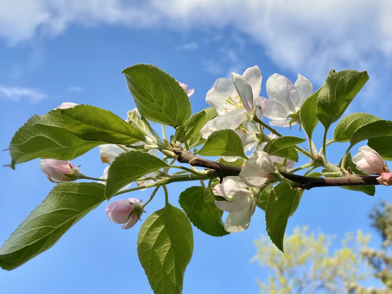
M125 185L149 172L167 167L167 163L147 152L128 151L120 153L107 172L105 196L109 200Z

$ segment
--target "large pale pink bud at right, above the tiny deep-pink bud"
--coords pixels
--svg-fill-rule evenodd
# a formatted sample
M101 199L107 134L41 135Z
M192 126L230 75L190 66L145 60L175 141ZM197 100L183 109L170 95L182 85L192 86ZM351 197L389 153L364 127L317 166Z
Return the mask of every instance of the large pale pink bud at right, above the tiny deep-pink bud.
M359 148L359 151L352 158L352 162L359 171L365 172L365 174L381 174L385 171L385 162L376 150L369 146L363 146Z

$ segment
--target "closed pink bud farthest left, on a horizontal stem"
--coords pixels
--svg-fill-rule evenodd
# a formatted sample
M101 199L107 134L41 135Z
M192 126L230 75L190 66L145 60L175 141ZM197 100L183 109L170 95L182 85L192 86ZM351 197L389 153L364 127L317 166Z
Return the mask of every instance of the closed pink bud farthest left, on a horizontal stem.
M69 162L64 160L57 159L41 159L40 169L49 181L52 183L62 183L65 181L72 181L71 178L65 176L65 174L72 173L72 169L75 166Z

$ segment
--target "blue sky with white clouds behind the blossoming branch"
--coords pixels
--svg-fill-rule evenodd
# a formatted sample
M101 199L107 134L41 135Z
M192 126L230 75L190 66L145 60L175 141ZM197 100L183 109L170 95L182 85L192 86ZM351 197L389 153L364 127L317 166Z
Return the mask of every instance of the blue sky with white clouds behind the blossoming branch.
M265 81L273 73L293 82L301 73L318 89L331 68L367 70L370 80L347 114L361 111L390 120L391 6L389 1L299 1L296 5L281 1L0 2L0 147L8 147L31 115L44 114L62 102L96 105L125 118L135 106L120 72L137 63L157 65L194 88L192 112L207 107L205 94L217 78L229 77L231 71L243 73L253 65L261 69L262 96ZM321 131L316 129L317 142ZM292 132L299 134L296 127ZM337 163L346 148L345 143L332 144L327 156ZM1 152L0 161L9 163L9 153ZM72 162L94 177L101 176L105 167L97 148ZM39 160L33 160L17 165L15 171L0 169L1 242L53 187L38 164ZM178 205L178 195L189 186L169 186L171 203ZM147 200L151 192L129 197ZM287 232L297 225L319 227L338 238L359 228L373 232L368 211L390 196L388 187L379 186L374 197L337 187L305 191ZM163 203L163 195L157 195L143 219ZM141 222L121 230L107 219L106 205L85 216L53 248L18 269L0 271L2 290L152 293L136 254ZM215 238L194 228L194 253L185 273L184 293L206 289L257 293L254 278L263 279L266 272L249 260L256 253L252 241L260 234L266 232L264 212L259 209L245 232ZM375 236L372 245L379 244Z

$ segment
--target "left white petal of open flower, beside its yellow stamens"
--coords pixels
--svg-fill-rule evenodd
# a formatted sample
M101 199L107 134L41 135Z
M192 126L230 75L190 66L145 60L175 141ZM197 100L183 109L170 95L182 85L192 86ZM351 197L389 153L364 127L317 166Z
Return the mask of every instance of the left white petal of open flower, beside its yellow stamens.
M219 78L207 92L205 101L216 109L218 115L223 115L227 113L227 111L230 112L235 109L234 106L226 104L226 100L229 99L229 97L234 98L237 95L237 90L232 80Z

